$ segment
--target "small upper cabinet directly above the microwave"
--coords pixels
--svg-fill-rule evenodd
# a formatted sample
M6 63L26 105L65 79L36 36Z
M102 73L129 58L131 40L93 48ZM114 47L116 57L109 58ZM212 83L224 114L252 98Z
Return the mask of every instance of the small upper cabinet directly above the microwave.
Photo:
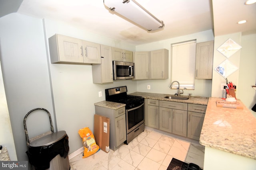
M112 60L133 63L133 52L112 47Z

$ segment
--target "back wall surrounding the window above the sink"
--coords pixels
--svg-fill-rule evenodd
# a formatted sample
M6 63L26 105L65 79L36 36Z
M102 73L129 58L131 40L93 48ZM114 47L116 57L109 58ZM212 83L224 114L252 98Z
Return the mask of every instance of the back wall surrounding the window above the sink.
M145 45L136 46L136 51L152 51L157 49L168 49L169 50L169 78L166 80L139 80L137 81L137 90L138 92L150 92L150 93L163 93L163 94L175 94L177 90L170 89L171 84L171 44L178 43L182 41L188 41L196 39L197 43L212 41L214 40L214 36L212 30L203 31L199 33L194 33L190 35L184 35L181 37L176 37L172 39L166 39L163 41L157 41L154 43L149 43ZM147 89L147 85L150 85L150 90ZM195 82L195 90L184 90L183 95L188 95L189 93L192 96L211 96L211 86L212 80L196 80Z

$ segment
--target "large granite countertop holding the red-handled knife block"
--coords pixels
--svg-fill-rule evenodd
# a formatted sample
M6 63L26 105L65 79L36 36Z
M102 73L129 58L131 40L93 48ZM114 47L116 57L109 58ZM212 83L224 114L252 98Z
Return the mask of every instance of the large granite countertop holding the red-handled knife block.
M221 98L209 98L200 143L206 147L256 159L256 118L243 109L217 107Z

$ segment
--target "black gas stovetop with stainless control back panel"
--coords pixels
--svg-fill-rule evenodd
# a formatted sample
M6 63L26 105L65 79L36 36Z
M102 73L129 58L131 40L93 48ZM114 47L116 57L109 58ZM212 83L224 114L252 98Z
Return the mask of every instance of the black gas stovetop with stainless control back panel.
M144 103L144 98L140 96L127 95L127 87L116 87L105 90L106 101L126 104L126 108L134 108Z

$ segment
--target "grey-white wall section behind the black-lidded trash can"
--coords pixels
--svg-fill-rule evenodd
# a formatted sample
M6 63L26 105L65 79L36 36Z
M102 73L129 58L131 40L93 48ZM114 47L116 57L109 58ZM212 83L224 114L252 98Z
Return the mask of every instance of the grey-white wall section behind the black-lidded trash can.
M24 116L37 107L53 113L42 20L16 13L4 16L0 18L0 37L2 74L17 158L27 160ZM36 115L32 114L32 121L28 117L29 138L50 130L48 115Z

